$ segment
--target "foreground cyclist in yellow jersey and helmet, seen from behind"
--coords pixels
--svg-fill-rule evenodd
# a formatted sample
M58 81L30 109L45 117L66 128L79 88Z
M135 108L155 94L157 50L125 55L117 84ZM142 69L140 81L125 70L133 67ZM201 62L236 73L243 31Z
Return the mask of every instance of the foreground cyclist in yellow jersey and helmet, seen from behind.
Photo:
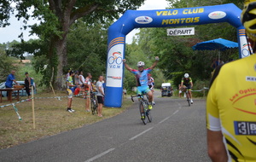
M256 50L255 13L255 0L247 0L241 23L253 53ZM255 54L215 69L207 95L207 145L212 161L255 161L255 87Z

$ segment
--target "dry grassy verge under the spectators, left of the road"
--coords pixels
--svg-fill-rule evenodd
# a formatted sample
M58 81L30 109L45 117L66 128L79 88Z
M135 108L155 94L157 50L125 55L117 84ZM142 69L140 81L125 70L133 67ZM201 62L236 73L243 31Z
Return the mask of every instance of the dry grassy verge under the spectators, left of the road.
M55 94L56 96L66 96L66 93L63 92L55 92ZM54 96L52 92L35 95L35 97L51 96ZM25 99L23 97L21 100ZM22 120L18 119L12 106L0 108L0 149L11 148L44 136L52 136L86 124L96 123L102 119L111 118L124 112L132 104L131 100L124 99L121 108L103 107L103 118L100 118L97 115L85 112L85 100L80 96L73 99L72 108L76 111L75 113L67 113L67 97L61 98L61 101L55 98L36 99L34 103L36 129L33 129L32 122L32 101L20 102L15 105ZM9 104L9 101L3 101L0 106L6 104Z

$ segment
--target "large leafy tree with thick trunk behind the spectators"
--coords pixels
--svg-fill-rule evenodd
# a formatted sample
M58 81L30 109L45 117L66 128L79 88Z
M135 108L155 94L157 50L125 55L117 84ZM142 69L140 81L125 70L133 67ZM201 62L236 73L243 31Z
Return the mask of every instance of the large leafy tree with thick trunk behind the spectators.
M35 1L20 1L20 0L3 0L3 14L0 14L0 26L7 26L9 13L13 12L10 3L16 4L18 14L16 17L25 18L24 23L26 28L26 20L29 17L37 18L40 24L35 24L32 27L32 33L48 44L47 57L57 58L57 63L50 61L49 67L56 69L53 73L56 77L55 87L61 89L63 67L67 66L67 33L70 26L80 18L83 18L87 23L93 24L95 20L114 20L118 19L120 14L123 14L127 9L137 9L144 0L35 0ZM34 7L32 15L27 13L27 10ZM20 34L22 38L22 33ZM55 60L55 59L53 59Z

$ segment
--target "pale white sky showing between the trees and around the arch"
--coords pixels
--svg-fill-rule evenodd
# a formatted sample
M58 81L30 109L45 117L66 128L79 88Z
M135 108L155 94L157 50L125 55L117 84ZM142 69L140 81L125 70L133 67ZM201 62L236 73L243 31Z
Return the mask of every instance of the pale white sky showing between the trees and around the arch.
M150 9L166 9L168 7L168 3L166 0L146 0L139 9L137 10L150 10ZM0 43L7 43L12 42L14 40L20 42L20 38L18 36L21 32L23 32L23 38L25 41L28 41L29 39L38 38L35 35L29 36L29 29L22 31L20 30L20 27L22 24L22 19L18 21L15 16L12 16L9 20L10 26L7 27L0 27ZM37 23L37 20L29 20L28 24L32 25ZM132 37L135 36L135 34L139 32L139 29L134 29L129 34L126 35L126 43L132 42Z

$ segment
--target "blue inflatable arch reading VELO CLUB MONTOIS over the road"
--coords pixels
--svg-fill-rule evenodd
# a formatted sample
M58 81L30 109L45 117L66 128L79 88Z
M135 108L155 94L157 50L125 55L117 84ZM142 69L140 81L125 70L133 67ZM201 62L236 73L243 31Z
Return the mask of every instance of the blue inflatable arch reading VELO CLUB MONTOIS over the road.
M241 9L235 4L204 6L187 9L127 10L108 28L108 60L106 107L121 107L123 96L125 36L134 28L194 26L228 22L237 28L239 56L249 54L245 29L240 21Z

